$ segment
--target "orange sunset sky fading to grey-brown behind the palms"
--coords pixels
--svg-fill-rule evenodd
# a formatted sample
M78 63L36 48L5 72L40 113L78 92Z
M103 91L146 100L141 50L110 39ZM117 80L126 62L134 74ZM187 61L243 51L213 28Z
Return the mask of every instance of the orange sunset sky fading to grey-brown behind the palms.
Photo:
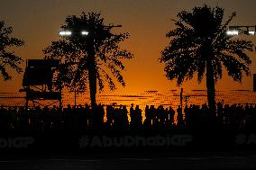
M219 5L225 9L225 18L237 12L232 24L255 25L256 1L251 0L1 0L0 20L14 28L13 35L25 41L25 47L14 49L25 59L43 58L42 49L58 40L60 25L68 15L84 12L101 12L106 23L122 24L116 31L128 31L130 38L123 48L133 52L132 60L125 61L123 77L126 86L118 86L116 94L134 94L145 90L158 90L160 93L178 89L176 82L165 77L163 65L159 63L160 51L168 44L167 31L174 29L178 12L191 10L194 6ZM255 36L248 37L256 42ZM256 53L250 53L251 73L256 73ZM24 62L25 63L25 62ZM23 63L23 68L25 67ZM18 92L23 74L12 73L13 79L0 80L0 92ZM206 89L206 82L197 85L197 79L182 85L185 89ZM231 77L224 78L216 85L217 89L252 89L252 78L243 79L242 85L234 83ZM107 93L107 92L106 92Z

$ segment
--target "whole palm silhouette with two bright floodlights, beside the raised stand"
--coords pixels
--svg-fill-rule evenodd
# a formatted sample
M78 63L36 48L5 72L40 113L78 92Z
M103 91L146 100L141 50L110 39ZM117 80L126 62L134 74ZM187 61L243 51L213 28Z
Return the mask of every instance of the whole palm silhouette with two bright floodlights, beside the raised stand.
M46 58L61 60L57 85L86 90L89 83L93 106L96 104L96 82L100 91L105 88L105 82L111 90L116 88L113 77L124 86L122 60L133 58L131 52L120 48L120 42L126 40L129 33L113 34L113 28L113 23L105 24L100 13L68 16L61 29L72 31L72 34L52 41L43 50ZM81 31L86 34L81 35Z

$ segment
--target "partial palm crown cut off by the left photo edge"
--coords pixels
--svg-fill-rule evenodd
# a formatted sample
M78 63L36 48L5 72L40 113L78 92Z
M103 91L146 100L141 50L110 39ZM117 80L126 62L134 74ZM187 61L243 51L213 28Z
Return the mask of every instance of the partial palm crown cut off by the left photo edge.
M11 79L11 76L7 73L8 67L14 69L17 73L23 71L19 67L23 59L16 56L14 51L10 51L10 48L23 46L24 42L23 40L10 37L12 32L12 27L5 27L5 22L0 21L0 72L4 80Z

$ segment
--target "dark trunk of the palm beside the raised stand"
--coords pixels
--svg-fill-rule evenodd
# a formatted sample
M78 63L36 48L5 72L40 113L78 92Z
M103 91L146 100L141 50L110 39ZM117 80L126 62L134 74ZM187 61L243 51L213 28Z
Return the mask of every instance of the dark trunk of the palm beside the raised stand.
M88 51L88 78L90 87L91 106L96 106L96 56L95 56L94 40L91 38Z

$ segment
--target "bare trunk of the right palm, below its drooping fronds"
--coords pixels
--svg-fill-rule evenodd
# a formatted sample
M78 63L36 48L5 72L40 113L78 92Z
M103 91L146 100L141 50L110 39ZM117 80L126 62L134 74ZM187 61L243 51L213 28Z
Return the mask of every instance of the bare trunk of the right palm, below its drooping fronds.
M215 74L212 59L206 61L206 88L209 112L215 115Z

